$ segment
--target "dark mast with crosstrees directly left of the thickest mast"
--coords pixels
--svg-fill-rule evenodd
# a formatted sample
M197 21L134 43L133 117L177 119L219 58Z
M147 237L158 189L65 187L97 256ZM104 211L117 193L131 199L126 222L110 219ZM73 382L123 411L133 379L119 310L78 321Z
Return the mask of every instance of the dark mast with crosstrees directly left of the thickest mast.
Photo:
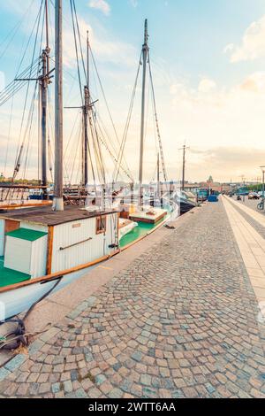
M47 187L47 102L49 86L49 10L48 0L45 0L46 16L46 48L42 50L42 186ZM44 199L47 199L47 188L43 189Z

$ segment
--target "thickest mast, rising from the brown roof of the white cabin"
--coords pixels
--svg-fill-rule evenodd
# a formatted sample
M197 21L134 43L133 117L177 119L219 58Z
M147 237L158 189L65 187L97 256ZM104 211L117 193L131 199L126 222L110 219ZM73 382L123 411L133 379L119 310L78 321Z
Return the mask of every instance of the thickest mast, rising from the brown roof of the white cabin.
M55 2L55 184L54 211L64 211L63 200L63 19L62 0Z

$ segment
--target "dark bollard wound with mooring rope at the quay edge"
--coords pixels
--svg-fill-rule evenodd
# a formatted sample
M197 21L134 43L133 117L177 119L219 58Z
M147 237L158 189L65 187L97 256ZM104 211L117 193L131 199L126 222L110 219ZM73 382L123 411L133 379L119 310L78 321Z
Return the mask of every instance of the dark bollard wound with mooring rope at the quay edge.
M27 346L25 334L23 320L6 320L0 324L0 350L16 350L21 344Z

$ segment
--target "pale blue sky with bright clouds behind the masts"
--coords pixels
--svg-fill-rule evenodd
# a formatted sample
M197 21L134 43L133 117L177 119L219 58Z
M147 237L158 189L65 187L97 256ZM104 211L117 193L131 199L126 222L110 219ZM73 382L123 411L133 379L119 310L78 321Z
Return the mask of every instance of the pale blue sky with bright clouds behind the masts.
M6 0L0 4L2 84L15 77L40 3ZM69 1L64 0L63 4L64 105L79 105L78 83L72 81L76 80L76 65ZM144 19L148 19L157 113L169 178L180 178L179 149L184 143L189 147L186 178L190 181L203 181L209 175L215 181L239 181L242 175L248 181L261 177L259 166L265 165L265 0L77 0L76 6L83 40L89 29L120 141L139 63ZM53 32L52 13L50 6ZM21 19L13 38L5 41ZM28 65L27 60L23 65ZM99 98L102 119L113 135L95 75L91 78L92 94ZM11 123L11 103L0 107L1 172L11 172L19 143L22 93L25 90L13 103ZM75 138L70 139L77 117L77 112L73 112L64 110L65 159L70 165L76 147ZM144 177L149 181L155 173L157 151L150 108L147 119ZM69 140L72 143L67 145ZM36 174L36 142L33 133L29 176ZM126 162L135 178L139 149L140 83L125 146ZM113 170L109 160L106 166Z

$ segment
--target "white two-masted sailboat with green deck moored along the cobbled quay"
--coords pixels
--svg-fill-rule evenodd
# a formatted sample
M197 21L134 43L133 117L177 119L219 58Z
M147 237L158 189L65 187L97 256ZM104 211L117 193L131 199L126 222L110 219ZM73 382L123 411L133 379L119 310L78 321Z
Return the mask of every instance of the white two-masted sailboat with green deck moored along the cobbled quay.
M43 297L62 289L98 264L137 243L170 219L167 210L145 204L142 194L147 21L143 45L139 204L131 204L129 209L125 203L110 204L106 208L103 196L101 206L64 206L62 19L62 0L56 0L55 173L52 207L36 206L0 212L0 305L4 305L4 308L0 308L4 311L0 320L27 310ZM87 101L83 110L87 119L87 109L91 106L88 84L84 92ZM45 106L45 99L43 104ZM42 115L45 116L45 111ZM45 129L43 130L44 141ZM85 147L87 140L85 129ZM84 154L87 154L87 150ZM45 166L45 155L42 165ZM85 157L84 183L87 181L86 166ZM43 173L43 189L46 189L45 181Z

